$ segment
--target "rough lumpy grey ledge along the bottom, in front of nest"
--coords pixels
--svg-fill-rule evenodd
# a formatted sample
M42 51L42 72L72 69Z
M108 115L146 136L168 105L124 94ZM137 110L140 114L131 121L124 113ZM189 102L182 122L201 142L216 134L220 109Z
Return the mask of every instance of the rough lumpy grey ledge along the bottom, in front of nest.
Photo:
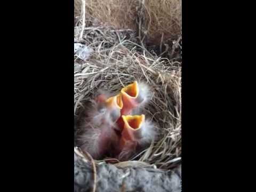
M130 166L120 163L111 165L102 163L92 166L87 159L75 155L74 191L147 191L181 192L181 166L170 171L161 171L146 166L145 163ZM87 161L86 161L87 162Z

